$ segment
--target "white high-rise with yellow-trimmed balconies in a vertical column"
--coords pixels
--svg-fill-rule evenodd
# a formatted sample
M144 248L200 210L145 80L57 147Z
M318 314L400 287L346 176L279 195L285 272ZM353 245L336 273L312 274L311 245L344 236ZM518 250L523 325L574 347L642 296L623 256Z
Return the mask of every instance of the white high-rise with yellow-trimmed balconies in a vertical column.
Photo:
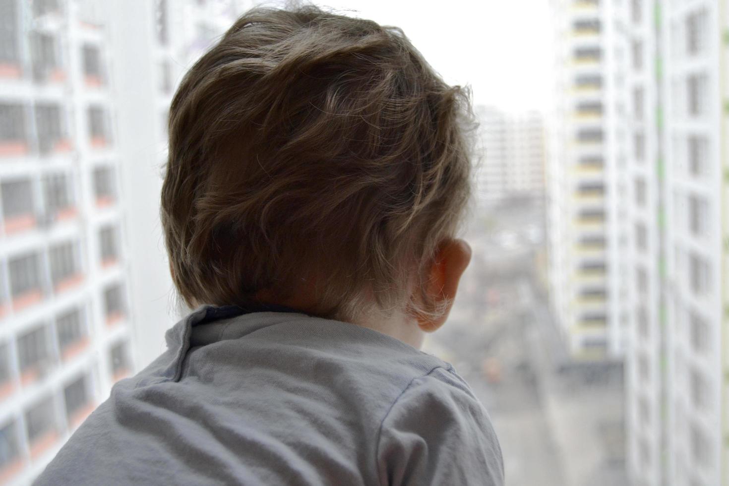
M625 345L624 8L612 1L552 1L550 305L575 361L617 359Z

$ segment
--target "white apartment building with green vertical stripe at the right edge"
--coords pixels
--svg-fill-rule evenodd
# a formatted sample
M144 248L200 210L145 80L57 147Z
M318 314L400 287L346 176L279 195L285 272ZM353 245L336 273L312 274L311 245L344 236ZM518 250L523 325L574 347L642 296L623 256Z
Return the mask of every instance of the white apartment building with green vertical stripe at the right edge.
M649 158L631 161L628 474L729 485L729 3L632 0L631 11L633 109L655 122L631 124Z

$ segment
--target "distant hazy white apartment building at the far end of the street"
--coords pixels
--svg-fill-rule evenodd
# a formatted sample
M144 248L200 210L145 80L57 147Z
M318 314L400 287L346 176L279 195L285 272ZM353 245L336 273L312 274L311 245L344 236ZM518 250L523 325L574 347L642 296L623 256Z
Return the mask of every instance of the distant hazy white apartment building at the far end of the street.
M516 201L541 206L545 197L545 127L537 111L475 109L479 127L479 199L490 208Z

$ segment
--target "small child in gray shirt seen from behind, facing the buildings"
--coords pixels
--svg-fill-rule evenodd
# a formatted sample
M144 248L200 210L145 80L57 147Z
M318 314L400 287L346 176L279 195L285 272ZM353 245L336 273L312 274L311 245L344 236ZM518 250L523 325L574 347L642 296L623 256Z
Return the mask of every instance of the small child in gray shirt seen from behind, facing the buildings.
M253 9L171 105L162 223L196 310L39 485L502 485L494 429L418 350L467 243L467 93L397 28Z

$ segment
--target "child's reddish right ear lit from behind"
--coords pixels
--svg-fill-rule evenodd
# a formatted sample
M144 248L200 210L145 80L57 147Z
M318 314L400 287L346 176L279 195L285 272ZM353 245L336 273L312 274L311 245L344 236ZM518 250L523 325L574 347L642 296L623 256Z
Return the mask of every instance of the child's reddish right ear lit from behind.
M461 239L443 240L438 245L430 267L426 293L435 302L444 302L448 299L448 307L440 318L418 317L418 326L425 332L433 332L445 324L445 320L451 312L453 300L456 299L461 275L471 261L471 254L471 247Z

